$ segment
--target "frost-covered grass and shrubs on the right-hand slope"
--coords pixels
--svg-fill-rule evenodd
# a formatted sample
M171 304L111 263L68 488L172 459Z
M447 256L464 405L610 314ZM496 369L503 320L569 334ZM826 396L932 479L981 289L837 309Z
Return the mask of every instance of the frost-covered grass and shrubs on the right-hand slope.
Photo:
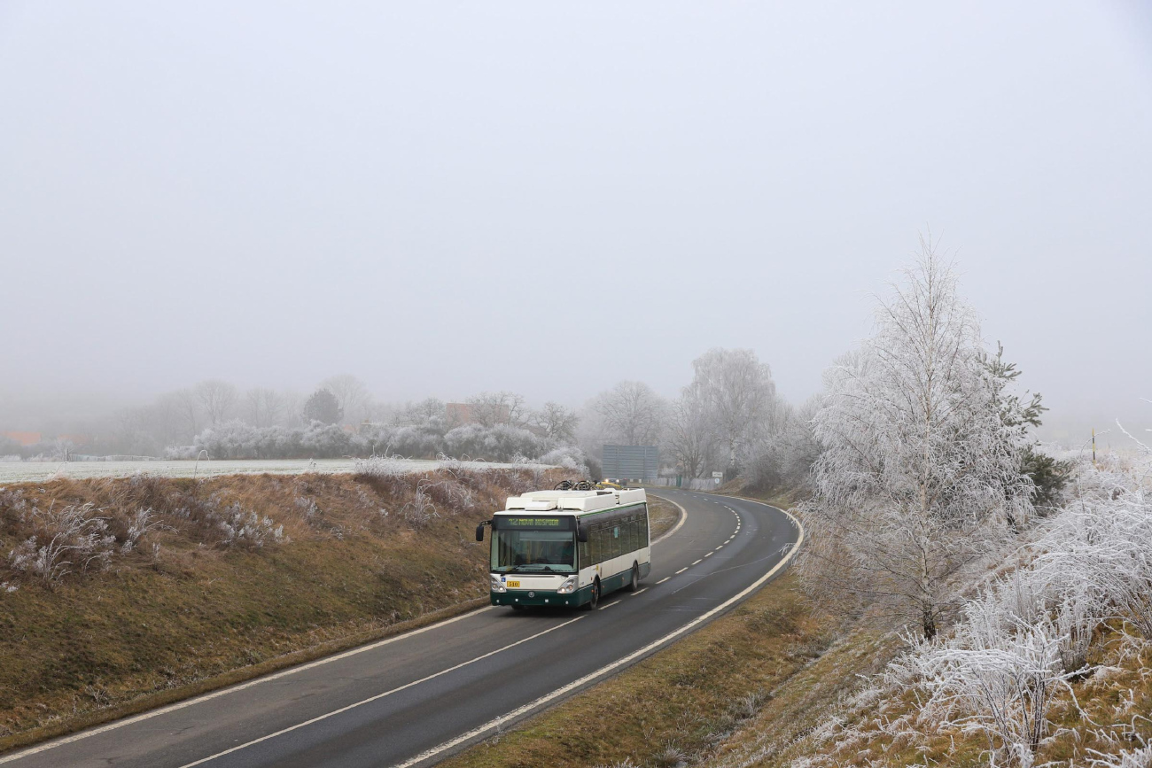
M932 640L889 634L863 657L892 663L867 677L836 671L861 646L848 638L818 664L823 713L767 712L705 765L1147 768L1149 469L1081 463L1060 511L990 563L955 626Z

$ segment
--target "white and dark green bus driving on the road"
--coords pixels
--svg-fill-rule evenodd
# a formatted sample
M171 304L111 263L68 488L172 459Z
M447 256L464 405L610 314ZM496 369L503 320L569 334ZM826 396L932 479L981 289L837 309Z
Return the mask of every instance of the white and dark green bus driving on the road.
M652 570L642 489L535 491L476 529L492 529L493 606L596 608Z

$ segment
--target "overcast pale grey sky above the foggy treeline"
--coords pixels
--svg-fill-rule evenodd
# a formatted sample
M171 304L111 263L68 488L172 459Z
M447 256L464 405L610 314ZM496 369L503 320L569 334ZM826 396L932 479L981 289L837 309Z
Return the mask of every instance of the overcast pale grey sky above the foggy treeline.
M801 401L931 226L1049 420L1152 426L1140 2L0 0L0 391Z

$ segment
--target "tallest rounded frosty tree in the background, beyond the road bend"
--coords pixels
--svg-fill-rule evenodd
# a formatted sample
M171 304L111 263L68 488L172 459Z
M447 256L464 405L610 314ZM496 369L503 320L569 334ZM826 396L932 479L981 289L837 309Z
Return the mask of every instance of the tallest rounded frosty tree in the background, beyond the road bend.
M773 415L776 386L772 371L750 349L711 349L692 362L694 386L707 403L728 465Z

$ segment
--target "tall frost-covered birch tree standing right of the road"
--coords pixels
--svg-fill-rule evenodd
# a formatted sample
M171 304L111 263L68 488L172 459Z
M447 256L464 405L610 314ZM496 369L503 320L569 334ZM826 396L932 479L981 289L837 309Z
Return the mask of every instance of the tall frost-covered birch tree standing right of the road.
M950 265L922 238L873 336L826 372L813 418L824 453L806 510L809 584L926 638L957 603L957 572L1029 508L1021 433L1001 418L1002 378L983 352Z

